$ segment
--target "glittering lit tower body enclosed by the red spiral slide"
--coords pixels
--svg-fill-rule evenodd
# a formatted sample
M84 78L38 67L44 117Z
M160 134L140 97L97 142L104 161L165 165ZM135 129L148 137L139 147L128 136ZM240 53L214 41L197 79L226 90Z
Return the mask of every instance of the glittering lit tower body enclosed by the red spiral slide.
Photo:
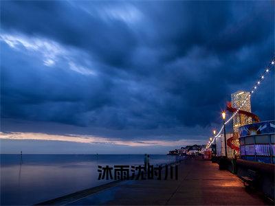
M240 110L251 113L251 102L250 102L249 95L250 93L247 91L236 91L235 93L232 93L231 94L232 107L233 108L241 107ZM248 98L248 100L245 102L246 98ZM245 102L245 104L241 106L243 102ZM237 113L232 120L233 120L234 135L238 135L238 129L240 126L252 123L252 117L245 115L243 113Z

